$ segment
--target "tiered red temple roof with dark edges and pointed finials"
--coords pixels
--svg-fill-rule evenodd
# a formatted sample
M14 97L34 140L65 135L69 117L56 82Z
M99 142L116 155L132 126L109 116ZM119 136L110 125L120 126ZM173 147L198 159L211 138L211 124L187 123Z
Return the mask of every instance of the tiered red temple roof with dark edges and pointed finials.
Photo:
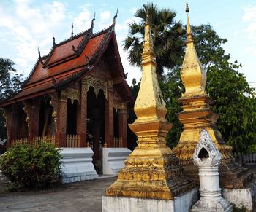
M59 44L54 43L48 55L42 58L39 56L20 93L2 102L0 106L51 93L83 78L94 69L110 41L113 41L110 54L113 54L114 57L111 57L112 59L108 60L108 63L110 63L114 86L125 101L133 101L125 81L124 69L118 52L114 31L115 22L116 16L109 28L93 34L94 20L92 20L89 30L72 36Z

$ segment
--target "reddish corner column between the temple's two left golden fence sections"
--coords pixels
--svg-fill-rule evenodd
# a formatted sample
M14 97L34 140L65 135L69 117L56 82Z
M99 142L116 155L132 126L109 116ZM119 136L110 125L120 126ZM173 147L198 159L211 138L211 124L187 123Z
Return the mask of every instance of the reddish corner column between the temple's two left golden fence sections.
M67 139L67 97L61 93L59 98L58 127L56 132L56 144L59 147L66 146Z

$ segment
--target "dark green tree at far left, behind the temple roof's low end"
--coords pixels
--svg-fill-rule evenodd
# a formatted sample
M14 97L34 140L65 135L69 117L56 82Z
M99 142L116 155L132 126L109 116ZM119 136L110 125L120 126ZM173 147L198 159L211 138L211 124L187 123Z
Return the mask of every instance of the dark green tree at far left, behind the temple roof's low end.
M17 74L13 67L15 64L10 59L0 58L0 102L10 98L20 90L22 75ZM0 109L0 138L7 138L4 127L4 111Z

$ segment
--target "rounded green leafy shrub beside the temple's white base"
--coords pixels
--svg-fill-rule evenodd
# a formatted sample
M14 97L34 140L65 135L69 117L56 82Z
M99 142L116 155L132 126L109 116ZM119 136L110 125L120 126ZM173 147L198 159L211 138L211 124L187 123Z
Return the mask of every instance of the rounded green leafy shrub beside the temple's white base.
M4 176L22 187L48 187L61 179L60 149L51 144L14 146L0 157Z

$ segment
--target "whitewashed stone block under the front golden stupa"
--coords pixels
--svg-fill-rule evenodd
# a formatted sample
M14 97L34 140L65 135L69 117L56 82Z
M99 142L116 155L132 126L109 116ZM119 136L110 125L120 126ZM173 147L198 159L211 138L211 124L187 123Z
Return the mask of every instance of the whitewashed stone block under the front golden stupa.
M174 200L133 197L102 197L103 212L187 212L197 201L198 188L179 195Z

